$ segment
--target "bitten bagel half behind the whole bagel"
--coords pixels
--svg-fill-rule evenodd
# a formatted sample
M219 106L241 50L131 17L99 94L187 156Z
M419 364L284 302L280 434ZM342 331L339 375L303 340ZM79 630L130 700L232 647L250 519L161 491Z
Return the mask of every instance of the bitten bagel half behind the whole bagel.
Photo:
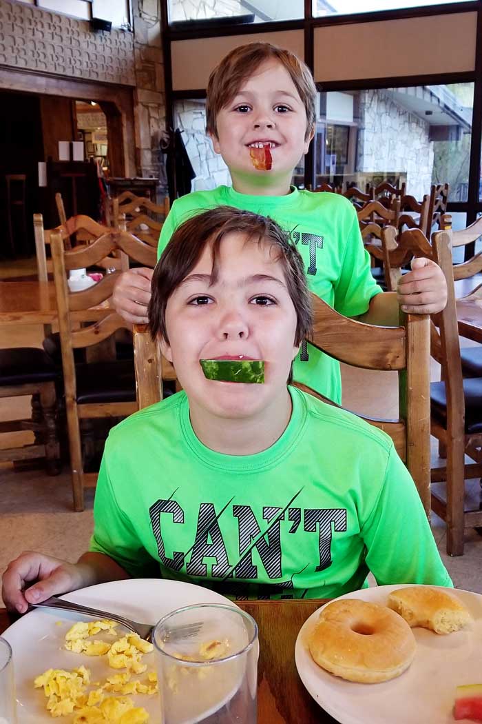
M422 626L435 633L459 631L470 621L470 613L455 596L429 586L397 589L390 594L387 605L412 628Z

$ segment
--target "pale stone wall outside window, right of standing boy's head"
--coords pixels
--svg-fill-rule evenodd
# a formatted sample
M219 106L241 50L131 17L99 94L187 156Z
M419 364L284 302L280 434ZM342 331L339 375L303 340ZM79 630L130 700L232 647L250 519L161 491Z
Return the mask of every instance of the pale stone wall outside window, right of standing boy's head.
M407 192L418 200L430 193L434 143L429 124L383 90L360 93L357 170L406 172Z

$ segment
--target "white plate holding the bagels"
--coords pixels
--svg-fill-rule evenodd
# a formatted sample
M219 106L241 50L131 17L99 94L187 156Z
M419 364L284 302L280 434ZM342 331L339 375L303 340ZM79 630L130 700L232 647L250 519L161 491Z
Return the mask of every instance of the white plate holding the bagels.
M340 598L384 605L392 591L405 587L378 586ZM306 643L322 609L315 611L296 639L296 668L304 686L340 724L453 724L455 687L482 682L482 596L458 589L449 593L468 607L473 623L447 636L413 628L415 660L402 675L383 683L344 681L315 664ZM469 720L463 721L469 724Z

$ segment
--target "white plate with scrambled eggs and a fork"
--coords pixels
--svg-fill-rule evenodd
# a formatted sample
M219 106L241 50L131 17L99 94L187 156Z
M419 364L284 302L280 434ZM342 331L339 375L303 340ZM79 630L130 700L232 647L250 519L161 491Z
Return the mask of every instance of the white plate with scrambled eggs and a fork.
M65 594L62 598L119 613L141 623L155 623L166 613L191 604L235 605L224 596L201 586L150 578L112 581ZM66 631L72 622L79 620L92 620L92 616L39 608L27 613L2 634L13 650L18 724L52 724L54 721L46 711L43 690L33 688L35 676L46 669L73 669L83 664L92 672L91 681L105 680L116 673L108 667L105 657L86 657L62 648ZM57 621L61 621L62 625L58 626ZM153 653L146 654L143 662L147 664L148 671L155 669ZM145 707L150 713L151 724L160 724L158 696L137 695L132 699L136 706ZM61 719L65 723L71 720L72 717Z

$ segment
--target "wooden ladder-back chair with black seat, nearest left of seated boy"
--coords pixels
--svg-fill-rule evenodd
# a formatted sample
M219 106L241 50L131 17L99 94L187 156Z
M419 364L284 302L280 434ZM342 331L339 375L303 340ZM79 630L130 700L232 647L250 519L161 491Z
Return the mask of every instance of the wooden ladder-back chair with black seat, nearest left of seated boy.
M82 292L69 292L66 273L96 265L120 249L129 258L145 266L155 266L156 251L127 232L108 229L94 243L84 248L65 251L61 230L51 232L53 276L56 286L62 369L69 449L72 466L72 488L75 510L83 510L84 487L95 486L97 474L85 474L82 467L82 448L79 420L126 416L137 410L132 361L75 365L74 350L89 348L107 340L121 328L130 329L121 316L106 306L106 317L82 329L73 329L70 313L105 305L116 282L116 274L108 274L95 286Z

